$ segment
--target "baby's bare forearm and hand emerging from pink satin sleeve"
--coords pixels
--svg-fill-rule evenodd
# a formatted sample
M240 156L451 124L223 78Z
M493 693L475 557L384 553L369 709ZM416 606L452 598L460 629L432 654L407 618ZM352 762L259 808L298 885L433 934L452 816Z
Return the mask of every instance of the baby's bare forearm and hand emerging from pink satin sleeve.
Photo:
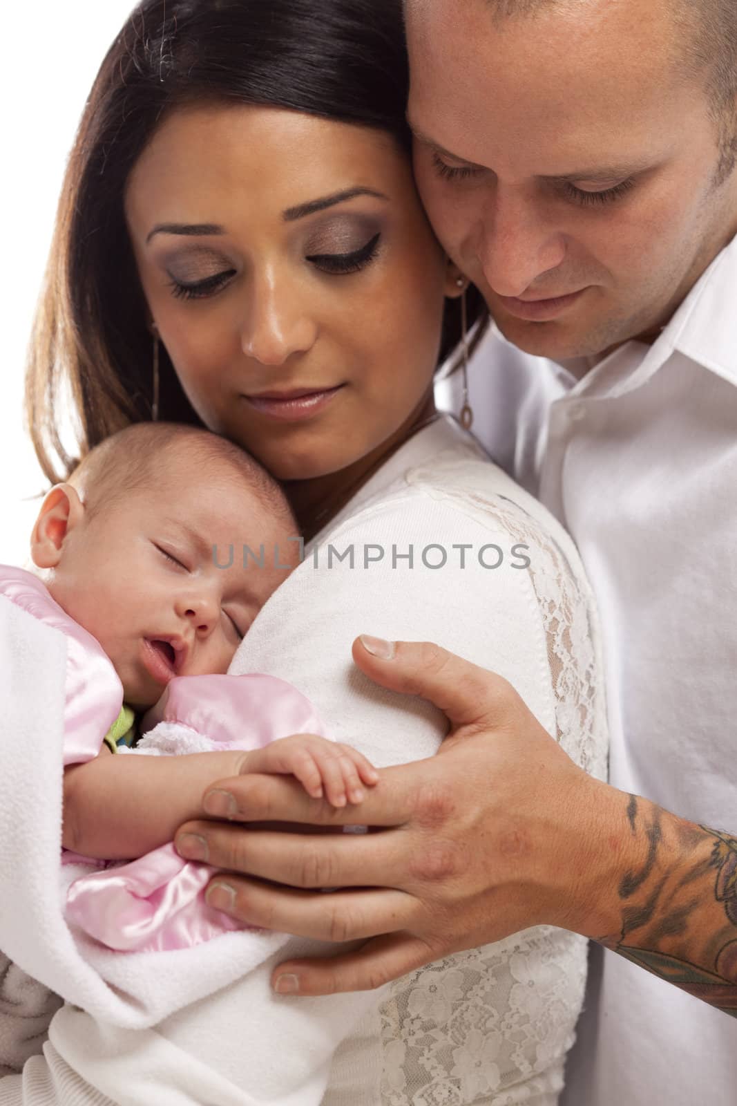
M378 776L361 753L325 738L298 735L263 749L113 757L106 747L64 772L62 844L83 856L129 860L173 839L182 823L202 817L202 795L219 780L248 772L295 775L334 806L364 799Z

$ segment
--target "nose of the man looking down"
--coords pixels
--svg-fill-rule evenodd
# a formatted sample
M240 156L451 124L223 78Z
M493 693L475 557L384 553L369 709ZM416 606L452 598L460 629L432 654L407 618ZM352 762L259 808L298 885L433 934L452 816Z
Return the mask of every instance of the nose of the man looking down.
M476 250L492 290L522 296L539 276L558 268L566 257L566 241L533 197L498 185L484 211Z

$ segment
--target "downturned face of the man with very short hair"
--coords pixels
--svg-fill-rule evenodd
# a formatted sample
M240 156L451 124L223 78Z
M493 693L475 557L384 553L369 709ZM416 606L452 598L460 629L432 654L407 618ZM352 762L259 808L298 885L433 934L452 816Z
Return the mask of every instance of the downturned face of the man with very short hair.
M668 0L494 20L409 0L409 119L435 231L503 334L551 358L652 340L737 231L737 174Z

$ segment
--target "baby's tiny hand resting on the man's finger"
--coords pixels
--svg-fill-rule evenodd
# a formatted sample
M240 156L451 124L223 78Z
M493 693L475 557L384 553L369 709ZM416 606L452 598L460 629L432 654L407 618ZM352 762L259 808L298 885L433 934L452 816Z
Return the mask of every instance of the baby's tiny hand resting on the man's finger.
M376 769L361 753L314 734L281 738L253 750L244 770L295 775L308 795L325 796L333 806L361 803L366 797L361 783L373 786L379 781Z

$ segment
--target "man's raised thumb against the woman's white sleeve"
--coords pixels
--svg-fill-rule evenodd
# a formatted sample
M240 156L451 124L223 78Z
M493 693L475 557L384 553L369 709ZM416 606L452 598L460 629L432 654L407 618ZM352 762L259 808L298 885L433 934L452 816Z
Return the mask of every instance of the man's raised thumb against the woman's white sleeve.
M430 700L456 728L504 721L512 687L501 676L430 641L393 641L390 650L383 648L388 643L377 641L356 638L352 655L381 687Z

